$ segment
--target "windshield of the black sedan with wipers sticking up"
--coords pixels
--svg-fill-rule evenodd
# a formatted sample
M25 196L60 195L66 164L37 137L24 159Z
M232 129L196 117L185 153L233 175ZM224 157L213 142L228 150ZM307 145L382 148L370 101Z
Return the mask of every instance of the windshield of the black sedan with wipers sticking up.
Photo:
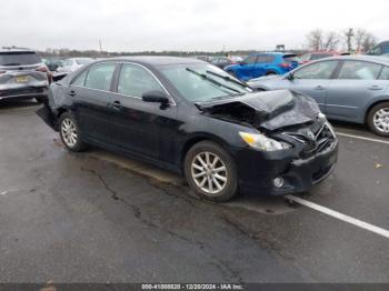
M209 102L252 92L223 70L207 63L169 64L158 69L191 102Z

